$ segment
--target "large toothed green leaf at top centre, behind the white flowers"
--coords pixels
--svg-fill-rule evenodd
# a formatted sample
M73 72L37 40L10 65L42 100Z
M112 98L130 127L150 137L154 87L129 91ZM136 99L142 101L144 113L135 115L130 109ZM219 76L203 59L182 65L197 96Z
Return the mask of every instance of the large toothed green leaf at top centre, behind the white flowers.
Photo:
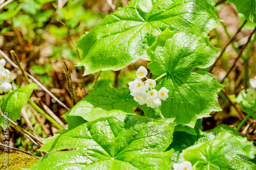
M218 26L211 2L205 0L134 0L129 6L105 17L80 38L84 75L99 70L119 70L142 58L166 28L191 30L207 35Z

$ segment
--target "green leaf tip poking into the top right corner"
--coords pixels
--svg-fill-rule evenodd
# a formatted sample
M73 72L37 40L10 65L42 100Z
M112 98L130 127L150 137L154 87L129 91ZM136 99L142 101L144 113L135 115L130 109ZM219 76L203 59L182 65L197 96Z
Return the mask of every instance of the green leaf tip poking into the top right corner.
M233 3L239 13L242 13L247 20L256 23L256 2L255 0L228 0L227 3Z

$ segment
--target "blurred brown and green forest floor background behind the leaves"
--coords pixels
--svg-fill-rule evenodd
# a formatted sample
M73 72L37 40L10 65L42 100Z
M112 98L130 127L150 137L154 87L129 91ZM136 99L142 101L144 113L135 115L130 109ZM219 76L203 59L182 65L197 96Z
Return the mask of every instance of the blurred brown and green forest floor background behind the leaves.
M88 75L82 78L81 67L75 66L79 58L71 38L77 43L79 38L92 30L103 17L127 4L129 4L129 0L0 0L0 49L8 56L10 56L10 51L14 50L23 68L44 84L61 102L71 108L73 103L67 88L68 82L62 60L69 63L77 101L84 98L95 77L95 75ZM221 19L220 25L208 36L212 44L223 48L243 25L245 17L237 13L236 7L231 3L218 5L216 14ZM57 19L66 23L71 37L67 28ZM227 70L237 59L238 53L246 44L248 36L254 28L255 23L247 21L234 41L227 46L221 59L211 70L218 81L225 77ZM223 111L213 112L211 113L212 117L204 118L203 130L208 131L221 124L237 127L243 119L243 112L236 103L230 101L229 95L238 95L241 90L248 88L249 79L256 76L255 39L256 35L253 35L242 57L229 76L224 79L225 87L219 95L219 103ZM135 79L136 69L141 65L146 66L146 64L146 61L139 60L120 71L103 71L99 75L99 79L109 80L114 87L126 88L128 82ZM13 69L9 63L6 67L11 70L11 78L18 86L25 85L20 71ZM58 117L67 112L40 88L38 97L39 99L33 98L44 102ZM134 110L141 113L138 108L134 108ZM30 124L41 137L51 137L54 133L58 133L58 130L51 127L49 121L38 114L31 105L27 104L22 112L28 115ZM64 119L61 120L66 123ZM30 132L24 119L18 120L18 124ZM241 131L244 136L255 143L255 129L256 121L249 118ZM3 138L3 134L1 135L0 137ZM32 145L30 140L15 132L11 127L9 127L9 135L12 147L40 156L40 152L36 151L37 148Z

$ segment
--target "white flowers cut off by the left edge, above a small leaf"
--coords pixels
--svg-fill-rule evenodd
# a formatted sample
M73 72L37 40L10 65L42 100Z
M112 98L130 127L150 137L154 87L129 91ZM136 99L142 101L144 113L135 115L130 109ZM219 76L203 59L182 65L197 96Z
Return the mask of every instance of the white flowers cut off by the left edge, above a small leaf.
M12 85L8 83L10 80L11 72L9 69L5 68L6 61L4 59L0 60L0 90L3 90L5 93L12 90Z

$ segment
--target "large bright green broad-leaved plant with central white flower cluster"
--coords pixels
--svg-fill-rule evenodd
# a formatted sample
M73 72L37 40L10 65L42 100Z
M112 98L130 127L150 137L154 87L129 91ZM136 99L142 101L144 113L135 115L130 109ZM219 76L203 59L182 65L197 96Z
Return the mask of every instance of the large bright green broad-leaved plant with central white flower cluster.
M254 21L252 12L245 17ZM203 117L221 111L223 85L191 70L214 64L219 49L207 35L218 21L212 0L133 0L106 16L80 38L77 66L89 75L144 59L147 69L129 88L98 81L63 115L68 129L42 139L38 151L49 153L30 169L256 169L256 148L233 128L201 130ZM147 71L158 78L143 82Z

